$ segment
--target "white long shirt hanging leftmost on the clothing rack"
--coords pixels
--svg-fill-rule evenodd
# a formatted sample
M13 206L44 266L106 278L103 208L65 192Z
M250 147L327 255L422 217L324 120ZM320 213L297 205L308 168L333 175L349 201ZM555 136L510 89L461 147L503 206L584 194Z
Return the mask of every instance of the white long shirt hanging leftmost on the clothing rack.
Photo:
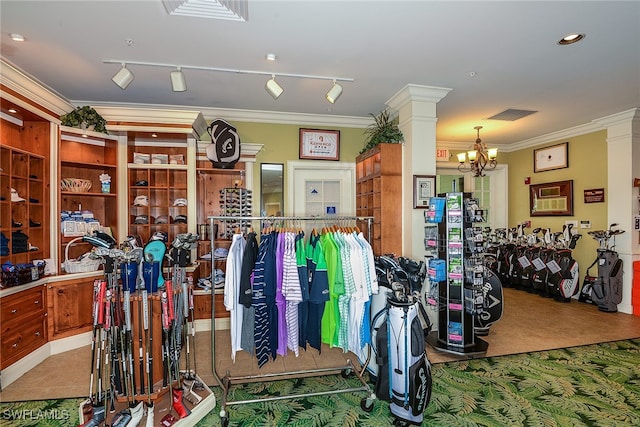
M234 234L227 256L227 269L224 278L224 306L231 312L231 360L236 361L236 352L242 349L241 332L244 306L238 303L240 293L240 277L242 273L242 255L244 253L245 240L242 234Z

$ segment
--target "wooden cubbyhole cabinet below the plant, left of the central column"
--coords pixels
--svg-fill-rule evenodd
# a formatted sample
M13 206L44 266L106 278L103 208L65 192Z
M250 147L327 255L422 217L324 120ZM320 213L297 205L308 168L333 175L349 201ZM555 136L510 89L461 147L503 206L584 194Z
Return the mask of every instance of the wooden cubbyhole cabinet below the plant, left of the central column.
M402 254L402 145L379 144L356 158L356 215L373 216L358 226L375 255Z

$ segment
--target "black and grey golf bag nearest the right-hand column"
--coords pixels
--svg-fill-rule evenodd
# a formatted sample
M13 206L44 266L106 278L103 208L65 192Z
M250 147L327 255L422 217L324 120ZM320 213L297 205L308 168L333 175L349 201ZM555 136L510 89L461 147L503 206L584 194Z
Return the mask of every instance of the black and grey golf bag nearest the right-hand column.
M598 263L598 277L590 286L585 280L580 297L585 299L586 296L583 297L582 293L588 295L589 289L585 290L585 287L590 287L591 301L598 306L598 310L614 313L618 311L618 304L622 302L622 260L615 251L598 249L595 262Z

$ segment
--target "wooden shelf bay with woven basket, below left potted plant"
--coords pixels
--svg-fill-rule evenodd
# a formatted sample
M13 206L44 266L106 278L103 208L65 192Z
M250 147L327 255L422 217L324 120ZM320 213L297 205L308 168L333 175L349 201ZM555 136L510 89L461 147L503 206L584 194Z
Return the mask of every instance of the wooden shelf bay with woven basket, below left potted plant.
M60 179L79 178L91 181L88 191L76 192L60 188L61 211L90 211L107 233L117 234L117 137L81 129L60 127ZM103 191L100 176L111 177L110 188ZM65 235L66 234L66 235ZM65 248L82 230L64 233L61 230L60 260L65 261ZM69 258L77 258L91 250L88 243L77 242L69 247Z

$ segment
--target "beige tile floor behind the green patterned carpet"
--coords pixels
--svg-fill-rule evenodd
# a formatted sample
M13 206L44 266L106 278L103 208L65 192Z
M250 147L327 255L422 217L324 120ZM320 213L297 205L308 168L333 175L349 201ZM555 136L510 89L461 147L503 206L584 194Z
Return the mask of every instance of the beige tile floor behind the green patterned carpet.
M640 317L623 313L603 313L590 304L572 301L560 303L515 289L504 289L504 314L489 335L482 337L489 343L486 356L498 356L571 347L597 342L640 337ZM258 369L255 358L239 352L231 361L228 331L216 332L216 371L224 376L260 376L272 372L289 372L324 367L342 367L350 353L337 348L323 347L278 357ZM0 392L1 401L82 397L88 394L90 346L47 358L22 378ZM196 334L196 369L209 385L215 385L211 364L211 333ZM427 347L432 363L460 360L467 356L452 355ZM354 360L357 363L357 360ZM263 381L265 378L255 378Z

